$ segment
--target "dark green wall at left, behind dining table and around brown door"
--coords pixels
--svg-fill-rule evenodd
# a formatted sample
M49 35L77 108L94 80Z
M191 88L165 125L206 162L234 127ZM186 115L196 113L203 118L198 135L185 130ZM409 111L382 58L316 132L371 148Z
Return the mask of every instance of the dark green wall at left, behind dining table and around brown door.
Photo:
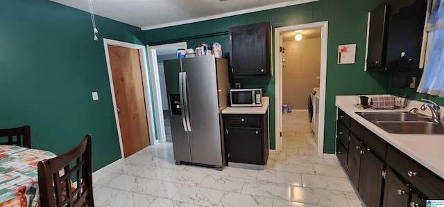
M102 38L142 44L140 28L96 16L95 42L88 12L47 0L1 1L0 26L0 128L56 154L92 134L94 170L120 159Z

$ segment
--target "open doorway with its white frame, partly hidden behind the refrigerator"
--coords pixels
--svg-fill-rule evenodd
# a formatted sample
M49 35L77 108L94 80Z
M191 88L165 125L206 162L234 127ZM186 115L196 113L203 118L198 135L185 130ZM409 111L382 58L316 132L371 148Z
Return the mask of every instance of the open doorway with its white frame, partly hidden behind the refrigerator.
M167 86L165 84L163 60L177 58L180 48L187 48L187 42L146 46L150 66L150 80L153 89L155 125L159 142L171 142L171 127L168 116Z

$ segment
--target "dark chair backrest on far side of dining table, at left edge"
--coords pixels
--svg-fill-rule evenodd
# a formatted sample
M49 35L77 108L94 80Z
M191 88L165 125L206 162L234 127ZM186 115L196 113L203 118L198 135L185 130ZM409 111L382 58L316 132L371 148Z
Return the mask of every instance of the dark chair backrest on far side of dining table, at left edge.
M31 127L24 125L23 127L0 129L0 145L19 145L31 148Z

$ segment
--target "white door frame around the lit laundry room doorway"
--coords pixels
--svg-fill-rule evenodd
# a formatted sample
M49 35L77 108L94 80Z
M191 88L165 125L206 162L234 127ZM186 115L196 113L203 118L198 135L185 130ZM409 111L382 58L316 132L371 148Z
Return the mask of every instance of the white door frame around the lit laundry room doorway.
M311 28L321 28L321 80L320 80L320 100L319 100L319 125L318 125L318 157L323 158L324 154L324 124L325 124L325 85L327 80L327 34L328 21L319 21L309 24L299 24L294 26L284 26L275 28L275 149L276 154L282 150L282 62L280 61L280 35L284 32L294 30L307 30ZM308 94L307 94L308 95Z

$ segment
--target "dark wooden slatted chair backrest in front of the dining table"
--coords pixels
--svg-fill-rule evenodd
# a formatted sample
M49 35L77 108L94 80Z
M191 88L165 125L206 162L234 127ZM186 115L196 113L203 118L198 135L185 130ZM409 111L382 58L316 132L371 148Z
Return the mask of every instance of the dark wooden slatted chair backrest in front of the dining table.
M40 206L94 206L91 152L87 134L72 150L38 163ZM71 179L77 181L72 191Z

